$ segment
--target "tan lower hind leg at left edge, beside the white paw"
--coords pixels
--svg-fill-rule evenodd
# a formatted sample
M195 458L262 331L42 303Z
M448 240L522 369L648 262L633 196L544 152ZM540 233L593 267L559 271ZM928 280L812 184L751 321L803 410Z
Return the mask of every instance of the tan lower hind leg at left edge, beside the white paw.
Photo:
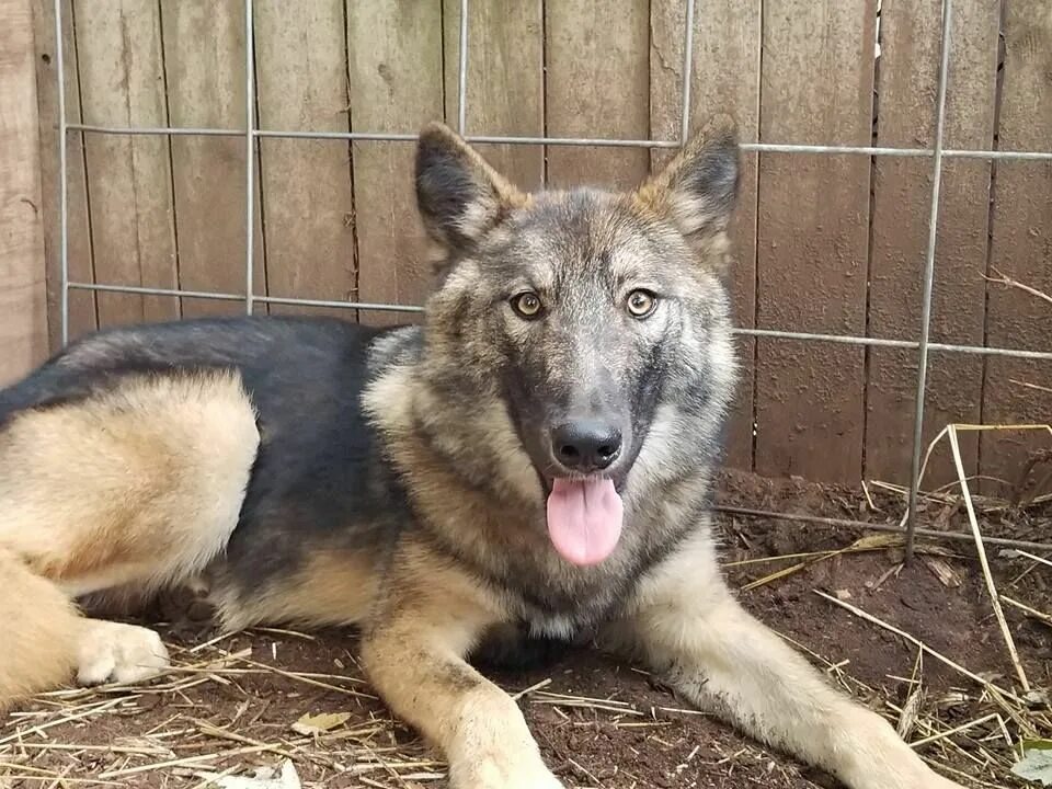
M72 676L81 621L61 590L0 548L0 711Z

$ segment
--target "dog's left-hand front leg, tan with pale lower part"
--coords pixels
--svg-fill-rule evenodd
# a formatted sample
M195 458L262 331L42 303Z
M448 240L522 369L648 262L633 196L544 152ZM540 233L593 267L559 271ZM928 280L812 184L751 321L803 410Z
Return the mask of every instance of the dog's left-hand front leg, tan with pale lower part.
M366 673L391 710L443 750L451 789L559 789L518 706L465 661L494 619L456 585L395 584L363 638Z

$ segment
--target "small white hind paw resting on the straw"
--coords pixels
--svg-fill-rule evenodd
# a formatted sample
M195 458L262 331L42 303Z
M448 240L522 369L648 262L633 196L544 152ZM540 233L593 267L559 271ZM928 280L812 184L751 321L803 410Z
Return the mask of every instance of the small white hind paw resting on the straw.
M170 665L161 637L147 628L87 620L77 644L77 682L135 683Z

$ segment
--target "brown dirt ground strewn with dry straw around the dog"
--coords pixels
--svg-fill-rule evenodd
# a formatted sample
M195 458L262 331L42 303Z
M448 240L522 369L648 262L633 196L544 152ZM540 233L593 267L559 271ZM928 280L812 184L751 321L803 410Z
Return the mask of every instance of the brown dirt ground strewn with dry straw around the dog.
M892 494L867 501L859 491L746 474L727 476L719 503L877 523L896 522L903 506ZM929 501L923 525L965 529L959 510ZM982 522L987 536L1052 541L1049 505L987 512ZM744 605L833 682L893 722L903 707L912 710L908 739L934 736L919 753L965 786L1024 786L1008 774L1015 757L1006 737L1052 734L1047 707L998 702L975 678L930 654L918 663L914 643L817 594L1021 695L973 545L921 538L917 560L903 567L896 535L731 515L721 515L719 527L728 576ZM1052 568L1003 550L987 547L1000 594L1052 610ZM808 556L775 559L801 553ZM1031 686L1049 688L1052 628L1015 606L1005 613ZM446 786L442 762L390 719L361 678L353 634L254 630L217 638L185 616L162 633L178 664L172 674L139 687L46 694L0 719L0 787L203 789L216 774L250 775L285 759L306 787ZM491 676L512 693L526 690L519 704L530 728L571 787L836 786L685 708L644 672L591 652ZM293 729L318 714L338 717L316 720L306 734Z

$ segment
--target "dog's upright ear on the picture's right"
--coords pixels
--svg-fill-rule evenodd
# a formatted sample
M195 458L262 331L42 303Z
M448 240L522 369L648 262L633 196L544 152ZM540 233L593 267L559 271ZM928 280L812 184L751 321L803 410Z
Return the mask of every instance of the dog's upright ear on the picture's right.
M638 190L636 199L672 220L688 241L704 243L727 229L737 182L737 133L730 117L718 116Z

